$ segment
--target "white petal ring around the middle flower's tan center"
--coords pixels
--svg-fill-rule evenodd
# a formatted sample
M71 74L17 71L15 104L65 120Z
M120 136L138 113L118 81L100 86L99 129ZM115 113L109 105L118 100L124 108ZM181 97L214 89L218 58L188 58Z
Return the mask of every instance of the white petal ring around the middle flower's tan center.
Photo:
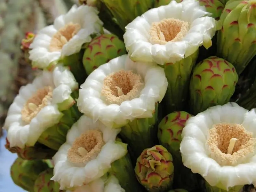
M132 70L144 80L144 88L139 98L124 101L121 105L105 104L101 98L101 88L106 76L123 70ZM94 70L81 85L77 106L94 121L100 120L109 127L120 127L135 118L149 118L155 110L156 102L161 102L167 90L164 70L152 63L138 63L123 55L110 60Z

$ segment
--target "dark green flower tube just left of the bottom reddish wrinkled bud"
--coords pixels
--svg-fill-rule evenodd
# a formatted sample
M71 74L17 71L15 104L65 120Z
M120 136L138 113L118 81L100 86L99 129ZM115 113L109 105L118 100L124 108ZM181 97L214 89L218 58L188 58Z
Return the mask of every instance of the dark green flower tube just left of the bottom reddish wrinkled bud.
M136 180L132 161L128 153L111 164L109 173L116 176L125 192L142 191L142 186L140 186L139 182Z

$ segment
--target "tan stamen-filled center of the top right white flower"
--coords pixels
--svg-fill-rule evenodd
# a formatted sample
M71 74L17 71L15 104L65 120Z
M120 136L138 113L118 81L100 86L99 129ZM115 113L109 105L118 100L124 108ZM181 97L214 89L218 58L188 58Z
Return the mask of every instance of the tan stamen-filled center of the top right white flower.
M187 21L164 19L151 24L149 30L150 43L165 45L167 42L181 41L189 30Z

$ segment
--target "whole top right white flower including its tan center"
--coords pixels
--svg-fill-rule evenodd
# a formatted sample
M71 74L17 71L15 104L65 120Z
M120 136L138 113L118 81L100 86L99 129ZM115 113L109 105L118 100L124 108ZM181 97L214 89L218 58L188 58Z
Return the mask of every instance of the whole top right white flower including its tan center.
M175 63L193 54L199 46L209 48L215 20L196 0L184 0L150 9L129 23L124 43L134 61Z

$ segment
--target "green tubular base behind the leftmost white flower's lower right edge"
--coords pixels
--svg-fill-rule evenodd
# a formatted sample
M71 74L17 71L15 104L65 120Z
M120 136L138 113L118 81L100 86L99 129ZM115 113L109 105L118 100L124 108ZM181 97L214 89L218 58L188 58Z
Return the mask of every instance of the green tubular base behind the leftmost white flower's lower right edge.
M58 124L46 129L39 137L38 142L45 146L58 150L62 144L66 142L66 136L71 126L82 116L76 105L73 105L67 110L62 111Z

